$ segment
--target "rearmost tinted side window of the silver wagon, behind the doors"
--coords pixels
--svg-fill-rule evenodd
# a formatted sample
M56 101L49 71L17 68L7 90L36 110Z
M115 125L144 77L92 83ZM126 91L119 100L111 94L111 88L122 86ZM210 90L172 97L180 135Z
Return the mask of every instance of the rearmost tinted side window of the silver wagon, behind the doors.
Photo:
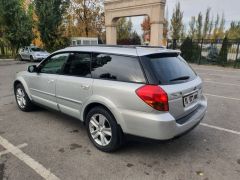
M93 54L92 75L97 79L145 83L145 78L136 57Z

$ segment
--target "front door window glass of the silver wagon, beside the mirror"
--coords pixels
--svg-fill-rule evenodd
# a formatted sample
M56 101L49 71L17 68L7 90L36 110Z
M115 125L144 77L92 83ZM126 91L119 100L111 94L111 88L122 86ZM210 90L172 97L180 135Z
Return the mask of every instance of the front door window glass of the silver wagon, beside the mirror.
M50 57L40 65L40 73L60 74L68 56L68 53L63 53Z

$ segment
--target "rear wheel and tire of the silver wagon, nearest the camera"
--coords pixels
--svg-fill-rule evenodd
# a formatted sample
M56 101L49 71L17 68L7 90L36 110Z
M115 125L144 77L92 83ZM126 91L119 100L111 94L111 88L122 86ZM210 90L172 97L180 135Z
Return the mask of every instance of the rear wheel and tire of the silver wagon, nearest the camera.
M102 106L94 107L86 116L88 137L103 152L112 152L122 144L122 131L113 115Z

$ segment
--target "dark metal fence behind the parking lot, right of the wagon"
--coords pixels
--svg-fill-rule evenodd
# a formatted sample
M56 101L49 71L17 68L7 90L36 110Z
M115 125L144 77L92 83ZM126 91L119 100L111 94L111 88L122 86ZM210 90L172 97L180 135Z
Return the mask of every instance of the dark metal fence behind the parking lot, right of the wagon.
M240 68L240 40L192 40L189 38L168 40L167 48L180 49L185 59L191 63L219 64ZM225 63L223 63L223 58L225 58Z

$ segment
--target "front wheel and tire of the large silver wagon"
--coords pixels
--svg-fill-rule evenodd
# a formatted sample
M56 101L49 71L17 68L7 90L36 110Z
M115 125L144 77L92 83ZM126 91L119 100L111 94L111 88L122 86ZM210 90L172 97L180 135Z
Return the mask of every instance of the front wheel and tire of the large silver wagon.
M29 112L34 109L34 104L29 99L23 85L17 84L14 88L15 99L20 110Z

